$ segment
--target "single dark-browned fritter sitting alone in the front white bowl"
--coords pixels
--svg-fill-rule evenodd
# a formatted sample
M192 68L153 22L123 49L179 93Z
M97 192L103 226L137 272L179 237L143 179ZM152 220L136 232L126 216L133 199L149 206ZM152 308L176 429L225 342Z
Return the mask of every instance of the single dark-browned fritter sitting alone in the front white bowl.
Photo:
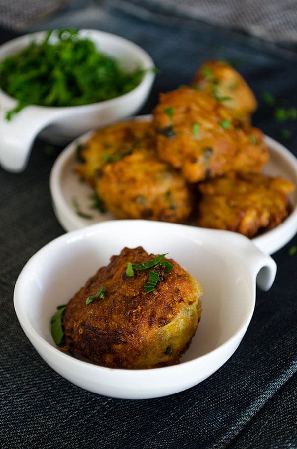
M162 265L152 267L158 283L146 293L149 269L135 269L129 277L127 262L145 263L155 257L142 247L124 248L86 282L63 315L64 349L110 368L145 369L179 362L200 319L202 288L173 259L162 259L173 268L166 273ZM86 305L100 287L103 297Z

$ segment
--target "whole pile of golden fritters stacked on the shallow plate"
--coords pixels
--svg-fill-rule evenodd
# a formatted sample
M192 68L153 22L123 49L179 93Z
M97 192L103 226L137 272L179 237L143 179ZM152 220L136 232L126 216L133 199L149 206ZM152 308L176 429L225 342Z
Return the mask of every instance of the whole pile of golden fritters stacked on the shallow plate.
M94 133L80 176L118 218L228 229L253 237L289 213L294 185L261 174L263 133L250 125L255 97L222 61L204 63L192 85L160 94L152 122Z

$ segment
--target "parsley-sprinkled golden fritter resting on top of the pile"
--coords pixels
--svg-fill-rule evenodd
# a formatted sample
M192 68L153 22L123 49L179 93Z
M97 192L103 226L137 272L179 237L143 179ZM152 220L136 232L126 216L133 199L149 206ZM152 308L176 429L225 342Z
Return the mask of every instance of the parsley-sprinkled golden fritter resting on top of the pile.
M153 124L160 158L190 183L234 169L260 171L268 161L261 132L241 127L222 102L196 89L161 94Z

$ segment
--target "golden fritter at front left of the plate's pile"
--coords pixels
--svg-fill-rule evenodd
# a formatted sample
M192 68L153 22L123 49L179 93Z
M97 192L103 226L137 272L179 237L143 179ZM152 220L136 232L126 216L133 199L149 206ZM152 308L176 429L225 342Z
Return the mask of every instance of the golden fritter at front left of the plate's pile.
M159 161L155 150L135 150L106 164L97 178L96 191L117 218L182 223L192 211L186 181Z

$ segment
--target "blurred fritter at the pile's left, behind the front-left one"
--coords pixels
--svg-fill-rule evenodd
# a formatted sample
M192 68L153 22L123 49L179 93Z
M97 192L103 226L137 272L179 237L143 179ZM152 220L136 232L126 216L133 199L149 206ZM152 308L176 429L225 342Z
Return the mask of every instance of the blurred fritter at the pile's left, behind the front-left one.
M79 176L95 186L96 175L106 162L119 161L135 149L154 148L155 132L151 123L129 121L95 131L79 148L84 162L77 168Z

